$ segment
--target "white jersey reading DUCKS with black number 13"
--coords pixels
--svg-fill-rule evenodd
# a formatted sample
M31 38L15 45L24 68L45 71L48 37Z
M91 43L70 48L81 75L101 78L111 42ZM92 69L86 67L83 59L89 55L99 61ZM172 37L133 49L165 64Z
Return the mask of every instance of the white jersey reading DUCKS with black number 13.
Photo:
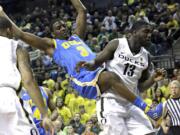
M148 67L148 54L142 47L138 54L133 55L127 39L120 38L114 58L106 63L106 69L116 73L129 90L138 94L137 84L143 70Z

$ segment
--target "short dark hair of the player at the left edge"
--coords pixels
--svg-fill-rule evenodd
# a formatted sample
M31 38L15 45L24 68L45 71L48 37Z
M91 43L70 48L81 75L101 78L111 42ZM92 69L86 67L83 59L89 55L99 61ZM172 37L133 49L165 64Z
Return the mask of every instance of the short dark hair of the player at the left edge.
M7 18L0 16L0 30L5 30L11 27L11 22Z

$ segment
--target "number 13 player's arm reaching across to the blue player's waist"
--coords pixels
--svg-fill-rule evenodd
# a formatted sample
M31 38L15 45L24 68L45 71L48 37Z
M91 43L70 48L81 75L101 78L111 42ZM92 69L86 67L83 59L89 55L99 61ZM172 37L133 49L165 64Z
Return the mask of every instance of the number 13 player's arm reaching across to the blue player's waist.
M114 52L116 51L118 44L119 40L117 39L110 41L103 49L103 51L101 51L93 61L80 61L79 63L77 63L76 70L79 71L79 69L82 67L88 70L95 70L104 62L111 60L114 57Z

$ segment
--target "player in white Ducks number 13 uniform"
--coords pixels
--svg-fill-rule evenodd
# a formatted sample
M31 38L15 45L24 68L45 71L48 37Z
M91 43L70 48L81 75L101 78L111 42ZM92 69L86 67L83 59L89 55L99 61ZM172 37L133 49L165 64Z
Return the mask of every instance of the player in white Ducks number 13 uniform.
M151 26L146 22L135 22L129 38L111 41L93 61L79 62L79 66L96 70L105 63L107 71L115 73L129 90L139 95L140 91L146 90L160 79L155 80L156 73L151 77L148 75L151 62L144 46L150 44L151 31ZM157 70L164 74L163 69ZM153 127L142 110L119 96L117 91L102 94L97 102L97 115L103 125L102 135L154 134Z

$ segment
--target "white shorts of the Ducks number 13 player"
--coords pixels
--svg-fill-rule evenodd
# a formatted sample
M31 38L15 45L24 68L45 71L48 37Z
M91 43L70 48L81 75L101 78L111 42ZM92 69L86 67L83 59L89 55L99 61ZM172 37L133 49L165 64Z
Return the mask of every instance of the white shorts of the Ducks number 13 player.
M145 135L153 133L151 122L142 110L116 99L101 97L97 101L97 116L103 131L100 135Z

